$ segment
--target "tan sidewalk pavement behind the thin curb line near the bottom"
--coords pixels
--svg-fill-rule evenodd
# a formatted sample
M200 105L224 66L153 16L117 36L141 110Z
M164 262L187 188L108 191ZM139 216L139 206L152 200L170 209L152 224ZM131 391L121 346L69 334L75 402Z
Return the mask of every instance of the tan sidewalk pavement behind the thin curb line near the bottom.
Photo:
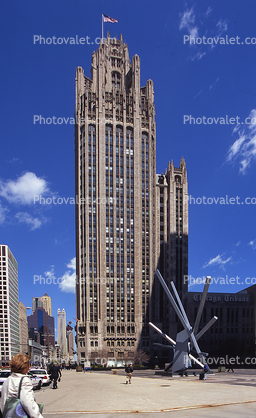
M71 412L167 412L256 402L255 386L246 385L246 379L244 384L232 384L234 377L230 375L229 384L226 373L221 383L220 375L208 375L208 380L200 381L198 376L136 377L135 371L132 384L126 385L123 370L116 375L64 370L58 390L41 389L36 392L36 400L44 404L45 416Z

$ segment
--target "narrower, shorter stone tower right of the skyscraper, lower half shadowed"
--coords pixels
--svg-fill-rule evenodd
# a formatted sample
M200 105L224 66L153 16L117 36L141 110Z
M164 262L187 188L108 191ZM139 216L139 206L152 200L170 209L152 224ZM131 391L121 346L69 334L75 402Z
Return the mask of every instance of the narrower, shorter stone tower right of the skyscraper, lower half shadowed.
M171 282L187 306L188 274L188 180L185 160L182 157L179 167L174 167L173 161L168 164L165 175L156 175L156 259L158 270L171 289ZM175 311L162 290L158 280L154 283L152 297L152 322L163 332L175 340L181 325L177 321ZM154 356L170 358L171 351L153 347L155 342L166 343L154 331L151 332L151 352Z

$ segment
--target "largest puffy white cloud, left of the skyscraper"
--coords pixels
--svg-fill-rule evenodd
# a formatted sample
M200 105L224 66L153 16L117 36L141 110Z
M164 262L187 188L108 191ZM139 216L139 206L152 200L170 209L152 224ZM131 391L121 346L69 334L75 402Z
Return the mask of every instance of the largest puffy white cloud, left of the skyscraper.
M34 202L34 196L47 192L47 182L35 173L27 172L17 180L0 180L0 196L10 203L29 205Z

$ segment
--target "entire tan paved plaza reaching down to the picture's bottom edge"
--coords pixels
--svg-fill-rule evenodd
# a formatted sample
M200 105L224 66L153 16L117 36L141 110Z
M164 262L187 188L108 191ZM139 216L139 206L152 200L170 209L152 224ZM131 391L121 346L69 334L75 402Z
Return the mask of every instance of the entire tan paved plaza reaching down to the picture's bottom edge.
M255 417L256 371L215 373L206 381L198 376L156 376L134 371L125 384L124 370L81 373L64 370L59 388L36 392L44 417Z

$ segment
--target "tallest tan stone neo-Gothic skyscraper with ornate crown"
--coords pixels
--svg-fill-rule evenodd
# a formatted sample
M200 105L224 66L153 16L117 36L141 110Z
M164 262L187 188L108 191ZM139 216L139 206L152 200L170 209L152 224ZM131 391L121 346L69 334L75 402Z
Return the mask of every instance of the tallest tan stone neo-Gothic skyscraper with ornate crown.
M93 53L91 78L77 68L75 114L78 360L99 353L132 360L136 349L152 348L150 319L161 320L152 295L154 273L162 236L169 267L175 258L176 230L168 222L175 218L176 194L175 204L168 202L176 193L175 170L180 187L185 184L185 162L172 173L168 168L160 183L153 82L140 86L140 59L135 55L130 62L122 36L108 35Z

